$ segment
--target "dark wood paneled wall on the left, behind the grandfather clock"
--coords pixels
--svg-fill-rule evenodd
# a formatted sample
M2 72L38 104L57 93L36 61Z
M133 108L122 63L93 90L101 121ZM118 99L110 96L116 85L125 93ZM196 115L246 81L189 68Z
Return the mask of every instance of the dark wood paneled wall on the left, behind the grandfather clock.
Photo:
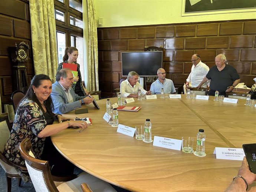
M35 74L30 33L30 16L28 0L1 0L0 9L0 95L1 102L10 103L12 89L12 63L8 47L14 47L24 41L29 44L27 67L29 82Z

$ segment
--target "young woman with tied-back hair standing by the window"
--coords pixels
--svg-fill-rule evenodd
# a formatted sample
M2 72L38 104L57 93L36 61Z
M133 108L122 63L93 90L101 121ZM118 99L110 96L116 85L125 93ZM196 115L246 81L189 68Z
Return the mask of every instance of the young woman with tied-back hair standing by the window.
M78 49L76 49L76 47L66 47L65 54L63 56L63 62L59 63L57 70L59 71L60 69L63 68L63 63L75 64L77 66L78 76L74 77L74 82L76 83L72 85L72 89L75 91L77 95L86 96L89 93L83 86L81 72L80 72L80 65L76 63L77 57L78 57Z

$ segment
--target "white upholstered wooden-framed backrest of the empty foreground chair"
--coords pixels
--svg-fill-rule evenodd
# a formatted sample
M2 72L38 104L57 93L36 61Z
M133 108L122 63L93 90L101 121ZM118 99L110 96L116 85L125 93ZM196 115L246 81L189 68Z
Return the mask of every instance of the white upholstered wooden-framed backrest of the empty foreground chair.
M27 171L36 191L59 192L50 173L49 162L29 155L31 142L28 138L20 143L20 154L25 159Z

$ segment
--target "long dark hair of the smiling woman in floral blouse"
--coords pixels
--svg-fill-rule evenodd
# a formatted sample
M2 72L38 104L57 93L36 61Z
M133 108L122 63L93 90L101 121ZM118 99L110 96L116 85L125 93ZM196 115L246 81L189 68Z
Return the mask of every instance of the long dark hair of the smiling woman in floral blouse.
M25 99L31 99L31 100L35 101L37 103L37 105L39 105L40 109L43 111L42 105L39 102L39 100L37 99L36 94L34 93L34 90L32 88L32 86L39 87L42 84L43 80L51 81L50 77L48 77L47 75L44 75L44 74L35 75L31 80L31 83L30 83L29 89L26 92L26 95L23 97L23 99L20 101L20 103ZM20 105L20 103L19 103L19 105ZM52 113L53 102L52 102L52 97L50 95L44 101L44 103L45 103L45 107L46 107L47 111Z

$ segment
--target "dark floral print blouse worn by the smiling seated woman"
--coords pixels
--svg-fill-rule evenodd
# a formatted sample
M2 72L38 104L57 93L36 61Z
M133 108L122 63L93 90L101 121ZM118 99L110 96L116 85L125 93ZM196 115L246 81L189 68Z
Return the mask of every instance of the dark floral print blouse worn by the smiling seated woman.
M19 146L24 138L29 138L35 158L40 159L45 144L45 138L37 135L47 125L43 111L36 102L25 99L20 103L15 114L10 137L4 146L4 155L16 165L26 167L25 160L20 155Z

